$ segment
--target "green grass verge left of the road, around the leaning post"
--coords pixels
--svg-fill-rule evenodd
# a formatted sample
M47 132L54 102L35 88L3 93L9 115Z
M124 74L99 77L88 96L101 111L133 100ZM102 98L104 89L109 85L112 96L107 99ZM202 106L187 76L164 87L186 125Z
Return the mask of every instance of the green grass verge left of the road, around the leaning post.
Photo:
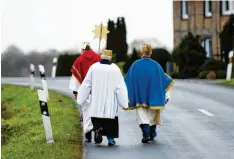
M47 144L37 97L29 87L2 85L2 159L81 159L82 128L69 97L50 91L48 108L55 143ZM3 130L4 129L4 130Z

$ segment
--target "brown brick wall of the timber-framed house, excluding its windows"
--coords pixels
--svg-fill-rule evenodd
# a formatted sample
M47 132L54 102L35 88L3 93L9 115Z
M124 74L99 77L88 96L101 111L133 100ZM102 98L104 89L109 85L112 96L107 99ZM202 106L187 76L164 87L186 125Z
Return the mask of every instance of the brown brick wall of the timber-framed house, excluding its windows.
M188 1L189 18L181 18L181 1L173 1L174 47L178 46L181 38L191 31L202 37L212 37L212 56L218 59L220 54L219 33L229 16L220 15L220 2L212 1L212 16L204 16L203 1Z

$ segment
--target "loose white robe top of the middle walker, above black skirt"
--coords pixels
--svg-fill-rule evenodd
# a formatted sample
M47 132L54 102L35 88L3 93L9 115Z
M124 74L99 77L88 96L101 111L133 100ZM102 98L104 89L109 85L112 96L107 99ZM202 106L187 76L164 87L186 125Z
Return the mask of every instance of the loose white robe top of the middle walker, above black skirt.
M91 92L90 116L114 119L118 106L128 107L128 92L117 65L93 64L79 88L77 99L82 105Z

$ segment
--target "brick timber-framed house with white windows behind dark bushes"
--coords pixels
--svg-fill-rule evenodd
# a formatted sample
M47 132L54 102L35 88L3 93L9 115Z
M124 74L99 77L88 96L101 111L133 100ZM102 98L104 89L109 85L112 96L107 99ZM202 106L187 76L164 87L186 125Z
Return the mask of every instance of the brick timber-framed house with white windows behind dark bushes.
M234 1L173 1L174 47L192 32L202 37L207 57L219 58L219 33L234 13Z

